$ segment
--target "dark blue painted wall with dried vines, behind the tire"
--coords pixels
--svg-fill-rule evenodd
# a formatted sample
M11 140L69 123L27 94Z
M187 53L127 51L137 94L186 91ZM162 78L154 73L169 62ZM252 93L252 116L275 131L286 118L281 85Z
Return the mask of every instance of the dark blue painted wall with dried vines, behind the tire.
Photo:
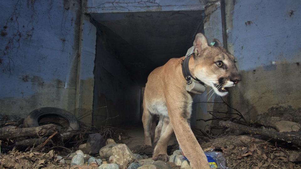
M80 4L0 1L0 113L75 109Z

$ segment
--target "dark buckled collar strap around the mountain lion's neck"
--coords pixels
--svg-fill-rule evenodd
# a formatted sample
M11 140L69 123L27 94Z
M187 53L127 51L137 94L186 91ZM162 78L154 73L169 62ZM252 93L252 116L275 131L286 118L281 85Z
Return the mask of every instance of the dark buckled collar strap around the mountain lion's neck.
M199 80L198 78L194 78L189 71L188 62L193 53L194 53L194 47L189 48L187 51L187 54L185 55L185 59L183 60L183 63L182 63L182 73L183 73L184 78L186 79L186 85L191 84L192 79L194 79L194 80L198 81L199 83L201 83L202 85L204 85L204 83L201 80Z

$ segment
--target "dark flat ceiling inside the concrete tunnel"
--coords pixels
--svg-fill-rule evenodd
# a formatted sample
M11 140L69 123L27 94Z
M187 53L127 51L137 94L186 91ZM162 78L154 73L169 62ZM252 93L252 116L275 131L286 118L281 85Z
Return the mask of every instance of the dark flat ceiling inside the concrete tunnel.
M170 58L182 57L203 32L203 11L92 13L107 48L123 62L133 80L145 85L148 74Z

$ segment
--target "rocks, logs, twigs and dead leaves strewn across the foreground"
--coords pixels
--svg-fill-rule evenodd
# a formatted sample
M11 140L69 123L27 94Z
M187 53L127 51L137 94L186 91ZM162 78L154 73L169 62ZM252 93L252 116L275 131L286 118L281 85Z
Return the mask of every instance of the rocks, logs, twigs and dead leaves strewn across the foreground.
M193 132L204 151L223 156L227 165L224 168L301 168L301 126L296 112L299 109L271 108L255 122L248 123L238 112L236 118L219 119L219 134L201 129ZM264 119L271 122L264 123ZM122 129L83 124L71 131L60 130L56 124L24 128L22 121L6 119L1 125L0 168L191 168L178 144L168 146L167 162L154 161L152 146L129 149L123 144L128 136Z

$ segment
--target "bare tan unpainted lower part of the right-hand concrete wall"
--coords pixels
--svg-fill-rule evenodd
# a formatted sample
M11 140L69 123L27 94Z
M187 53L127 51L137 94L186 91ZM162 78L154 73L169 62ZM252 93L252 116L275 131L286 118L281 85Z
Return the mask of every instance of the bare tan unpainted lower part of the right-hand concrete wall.
M231 105L237 107L250 120L270 107L291 105L300 107L301 68L295 63L275 64L275 70L263 66L254 71L241 71L242 81L237 89L230 90Z

